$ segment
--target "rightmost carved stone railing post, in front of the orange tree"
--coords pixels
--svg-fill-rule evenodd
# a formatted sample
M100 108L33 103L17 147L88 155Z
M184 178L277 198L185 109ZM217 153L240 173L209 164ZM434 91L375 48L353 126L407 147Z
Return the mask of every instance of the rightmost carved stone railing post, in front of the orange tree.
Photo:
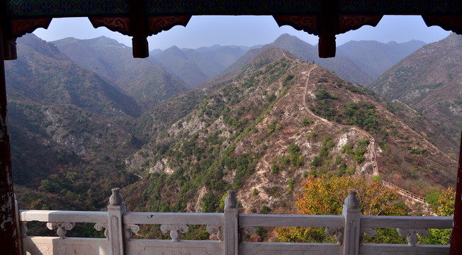
M356 191L348 191L348 197L345 198L342 215L345 219L343 254L358 255L359 235L361 233L361 212L359 210L358 198L356 198Z

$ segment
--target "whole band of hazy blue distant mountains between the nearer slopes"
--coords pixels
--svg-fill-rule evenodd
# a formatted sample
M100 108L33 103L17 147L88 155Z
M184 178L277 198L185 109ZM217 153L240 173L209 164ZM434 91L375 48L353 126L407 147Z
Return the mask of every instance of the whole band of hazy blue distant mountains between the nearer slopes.
M167 50L155 49L146 59L147 62L154 63L154 67L149 67L146 60L134 60L131 57L130 47L110 38L90 40L66 38L53 43L72 60L118 84L120 89L128 94L136 98L142 96L145 98L144 103L146 100L150 101L150 107L159 103L161 96L168 98L192 89L222 72L240 69L252 57L271 47L287 50L305 61L314 61L336 72L343 79L365 85L424 44L417 40L387 44L376 41L347 42L337 47L337 57L321 59L317 56L316 46L303 42L293 35L283 34L268 45L254 47L213 45L198 49L180 49L176 46L169 47ZM160 74L162 68L155 67L155 64L167 70L169 74ZM153 71L137 72L136 69L132 69L127 73L126 70L130 69L130 66L137 66L140 69L150 68ZM129 79L132 86L125 87ZM147 80L150 80L150 84L146 82ZM171 85L162 88L162 84L166 83ZM180 84L186 87L181 87ZM152 86L160 88L148 89ZM165 92L157 94L156 91L159 90Z

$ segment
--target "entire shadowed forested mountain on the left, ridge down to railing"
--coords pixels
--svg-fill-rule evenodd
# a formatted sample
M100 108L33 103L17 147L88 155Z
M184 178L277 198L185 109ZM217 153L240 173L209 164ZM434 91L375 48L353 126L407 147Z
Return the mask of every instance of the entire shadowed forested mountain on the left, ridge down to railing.
M106 79L28 35L6 62L6 90L21 205L97 210L107 199L97 191L133 177L122 159L140 146L129 131L140 106Z

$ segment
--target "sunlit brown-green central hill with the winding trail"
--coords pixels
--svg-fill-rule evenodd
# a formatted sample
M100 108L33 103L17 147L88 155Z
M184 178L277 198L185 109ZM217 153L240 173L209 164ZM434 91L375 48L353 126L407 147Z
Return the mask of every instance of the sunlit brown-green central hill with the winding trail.
M126 201L130 210L215 212L232 188L244 212L295 212L310 174L371 178L369 134L385 180L422 195L453 185L456 162L377 100L323 67L265 50L128 158L142 180L124 192L145 195Z

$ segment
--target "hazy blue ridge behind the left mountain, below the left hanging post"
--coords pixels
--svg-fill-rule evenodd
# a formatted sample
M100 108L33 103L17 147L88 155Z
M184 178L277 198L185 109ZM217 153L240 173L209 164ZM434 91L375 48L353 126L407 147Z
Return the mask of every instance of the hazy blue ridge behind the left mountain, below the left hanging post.
M116 40L101 36L89 40L65 38L52 43L74 62L100 74L136 98L142 108L152 108L170 96L188 90L159 65L133 58L131 48Z

